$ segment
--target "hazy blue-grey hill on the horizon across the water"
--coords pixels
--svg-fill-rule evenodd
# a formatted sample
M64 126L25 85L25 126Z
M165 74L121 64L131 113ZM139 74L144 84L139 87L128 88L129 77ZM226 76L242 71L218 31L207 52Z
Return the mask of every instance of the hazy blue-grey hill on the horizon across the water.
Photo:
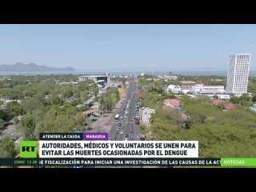
M72 67L57 68L49 66L38 66L34 63L24 64L17 62L14 65L0 65L0 71L74 71Z

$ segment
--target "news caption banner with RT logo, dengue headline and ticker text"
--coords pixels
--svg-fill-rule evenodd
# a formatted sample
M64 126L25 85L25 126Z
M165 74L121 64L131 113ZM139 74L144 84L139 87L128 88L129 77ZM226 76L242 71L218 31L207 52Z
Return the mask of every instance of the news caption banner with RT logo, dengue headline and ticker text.
M20 158L38 167L220 166L220 158L198 158L198 141L111 141L108 133L41 133L20 142Z

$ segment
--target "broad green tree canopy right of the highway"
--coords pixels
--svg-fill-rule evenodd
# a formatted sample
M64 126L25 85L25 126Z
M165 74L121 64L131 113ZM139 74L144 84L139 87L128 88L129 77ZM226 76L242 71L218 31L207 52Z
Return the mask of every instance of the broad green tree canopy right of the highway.
M213 78L221 79L222 77L181 76L178 80L226 86L225 78L223 82L212 84ZM248 85L248 92L252 93L252 97L244 94L240 98L235 96L230 98L230 102L236 105L233 110L223 110L222 105L214 106L212 100L207 97L190 98L187 95L178 95L182 110L162 110L163 99L177 98L177 94L175 96L162 90L165 82L161 80L154 82L141 78L140 82L146 92L146 97L141 98L142 106L156 110L151 117L150 128L141 126L143 134L150 133L151 137L157 141L198 141L199 157L254 157L256 155L256 116L254 112L248 110L249 106L256 103L255 78L250 78ZM181 114L186 114L185 122Z

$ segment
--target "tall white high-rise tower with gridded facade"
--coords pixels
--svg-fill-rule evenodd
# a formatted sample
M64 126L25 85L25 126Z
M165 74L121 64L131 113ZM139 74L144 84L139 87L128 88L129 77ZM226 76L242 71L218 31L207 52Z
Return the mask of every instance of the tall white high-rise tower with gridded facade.
M241 96L247 93L250 54L230 55L226 93Z

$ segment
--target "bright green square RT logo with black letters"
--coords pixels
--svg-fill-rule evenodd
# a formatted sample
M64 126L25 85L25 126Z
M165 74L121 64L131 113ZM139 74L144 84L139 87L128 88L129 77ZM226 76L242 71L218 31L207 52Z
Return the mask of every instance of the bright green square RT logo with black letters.
M21 158L37 158L37 141L21 141L19 143L19 156Z

